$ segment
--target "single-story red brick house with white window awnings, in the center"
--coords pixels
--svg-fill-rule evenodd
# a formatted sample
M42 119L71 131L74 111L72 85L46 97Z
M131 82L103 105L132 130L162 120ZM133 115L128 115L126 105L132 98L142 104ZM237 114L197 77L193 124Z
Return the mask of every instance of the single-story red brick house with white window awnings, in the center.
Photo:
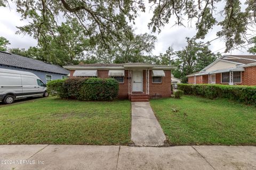
M146 63L81 64L64 66L72 77L113 77L119 82L119 98L148 101L171 96L173 66Z

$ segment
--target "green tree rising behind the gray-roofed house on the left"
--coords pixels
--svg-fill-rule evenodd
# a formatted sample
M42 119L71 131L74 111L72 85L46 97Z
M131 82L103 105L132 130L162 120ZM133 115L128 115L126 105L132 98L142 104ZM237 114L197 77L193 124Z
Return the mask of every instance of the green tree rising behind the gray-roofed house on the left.
M28 27L37 26L31 23L29 26L19 27L18 33L31 33ZM28 50L11 49L11 53L52 64L68 65L78 64L83 60L84 50L88 50L91 45L82 25L76 19L68 19L53 30L41 27L41 31L42 35L34 35L34 38L38 39L37 47L30 47Z

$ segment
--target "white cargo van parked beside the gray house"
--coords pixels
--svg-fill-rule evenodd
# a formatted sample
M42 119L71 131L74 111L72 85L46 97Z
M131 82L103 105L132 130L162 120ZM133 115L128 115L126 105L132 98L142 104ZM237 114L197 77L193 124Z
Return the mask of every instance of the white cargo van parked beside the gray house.
M14 99L44 96L46 85L35 74L25 71L0 69L0 101L13 103Z

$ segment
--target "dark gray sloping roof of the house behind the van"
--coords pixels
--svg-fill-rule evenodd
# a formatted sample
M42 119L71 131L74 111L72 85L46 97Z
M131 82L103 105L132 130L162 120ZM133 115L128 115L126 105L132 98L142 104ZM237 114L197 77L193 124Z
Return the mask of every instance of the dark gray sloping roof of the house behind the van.
M22 67L25 69L39 70L51 73L59 73L67 75L68 70L59 65L45 63L28 57L23 57L16 54L10 54L0 51L0 64Z

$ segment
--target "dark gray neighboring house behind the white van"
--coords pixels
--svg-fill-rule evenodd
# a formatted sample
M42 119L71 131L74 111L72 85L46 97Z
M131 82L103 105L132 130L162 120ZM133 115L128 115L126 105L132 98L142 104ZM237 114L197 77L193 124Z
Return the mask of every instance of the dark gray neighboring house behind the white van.
M27 71L37 75L44 83L64 79L69 71L59 65L0 51L0 68Z

